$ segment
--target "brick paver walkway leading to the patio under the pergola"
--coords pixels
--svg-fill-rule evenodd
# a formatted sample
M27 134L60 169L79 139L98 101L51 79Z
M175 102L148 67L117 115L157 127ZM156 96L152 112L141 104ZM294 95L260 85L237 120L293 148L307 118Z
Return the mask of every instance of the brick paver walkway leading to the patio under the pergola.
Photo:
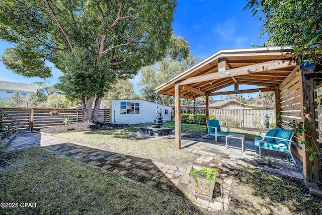
M19 133L5 151L41 146L52 153L68 156L112 171L160 191L178 194L182 192L197 206L208 210L225 210L228 207L230 188L233 183L232 173L236 168L247 166L292 177L302 177L302 166L298 160L297 165L294 165L286 160L285 154L270 154L271 152L265 150L263 151L263 159L259 160L252 142L245 142L247 150L244 153L241 153L241 149L238 149L238 142L232 142L228 150L225 149L224 142L218 141L215 143L213 139L186 139L185 142L186 144L182 146L183 150L200 155L193 162L193 166L220 169L217 180L220 180L221 185L217 189L221 190L219 192L221 195L216 196L214 192L212 200L193 196L189 181L189 168L183 169L149 159L96 149L51 135ZM237 149L231 148L233 146ZM218 183L216 184L218 186Z

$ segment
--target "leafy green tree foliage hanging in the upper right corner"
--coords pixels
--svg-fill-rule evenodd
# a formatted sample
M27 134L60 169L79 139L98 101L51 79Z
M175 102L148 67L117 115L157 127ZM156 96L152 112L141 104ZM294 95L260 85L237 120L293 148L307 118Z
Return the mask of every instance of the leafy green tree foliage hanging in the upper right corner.
M262 13L267 46L293 45L299 61L307 58L321 63L322 1L248 0L247 8L254 16Z

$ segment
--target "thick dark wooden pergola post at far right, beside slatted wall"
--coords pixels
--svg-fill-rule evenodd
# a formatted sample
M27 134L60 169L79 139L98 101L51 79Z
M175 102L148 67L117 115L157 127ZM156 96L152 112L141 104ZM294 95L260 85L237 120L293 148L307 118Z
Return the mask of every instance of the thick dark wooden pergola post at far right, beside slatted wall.
M303 145L303 174L306 180L318 183L318 161L315 158L313 161L309 161L310 154L305 151L306 148L312 147L313 150L317 151L318 134L316 132L316 121L317 116L315 115L314 99L316 98L316 92L314 92L314 81L313 78L304 78L305 74L314 73L313 68L300 69L300 88L301 88L301 101L303 115L302 119L306 128L305 140L308 142Z

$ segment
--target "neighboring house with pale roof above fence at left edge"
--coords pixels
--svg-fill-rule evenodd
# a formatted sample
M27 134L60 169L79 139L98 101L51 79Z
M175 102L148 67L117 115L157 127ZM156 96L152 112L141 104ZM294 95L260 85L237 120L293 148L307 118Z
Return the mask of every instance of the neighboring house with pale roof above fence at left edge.
M37 86L17 82L0 81L0 98L2 100L11 99L15 92L18 92L21 96L29 96L32 93L37 93Z

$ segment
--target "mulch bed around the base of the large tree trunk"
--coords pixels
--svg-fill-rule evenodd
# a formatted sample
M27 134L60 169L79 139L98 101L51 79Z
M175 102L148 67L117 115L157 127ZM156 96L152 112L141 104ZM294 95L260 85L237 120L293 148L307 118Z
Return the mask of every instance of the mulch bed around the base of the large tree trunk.
M111 124L104 122L81 122L76 124L69 125L58 125L47 128L41 128L39 131L43 133L61 133L61 132L70 132L70 131L86 131L86 130L111 130L119 129L128 126L127 124Z

